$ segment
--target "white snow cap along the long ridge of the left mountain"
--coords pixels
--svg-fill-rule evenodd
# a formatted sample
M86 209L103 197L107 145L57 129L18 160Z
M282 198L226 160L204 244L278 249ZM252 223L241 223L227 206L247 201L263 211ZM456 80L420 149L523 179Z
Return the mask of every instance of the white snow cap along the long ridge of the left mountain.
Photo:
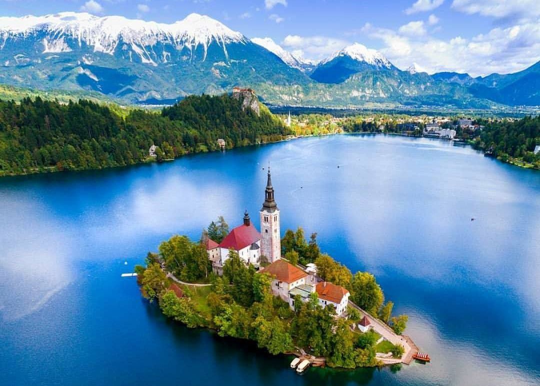
M173 24L146 22L123 16L98 17L86 12L60 12L45 16L0 17L0 40L11 36L29 36L44 32L47 52L68 50L67 42L92 46L94 51L112 54L120 41L137 52L156 43L171 43L181 48L202 45L206 53L213 41L223 46L246 43L240 33L208 16L192 13ZM56 41L58 40L58 41ZM51 48L52 47L52 48Z

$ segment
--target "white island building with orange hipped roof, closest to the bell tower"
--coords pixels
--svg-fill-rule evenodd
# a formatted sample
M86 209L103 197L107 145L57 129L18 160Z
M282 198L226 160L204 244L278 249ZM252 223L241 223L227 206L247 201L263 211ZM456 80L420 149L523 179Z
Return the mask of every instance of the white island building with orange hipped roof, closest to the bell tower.
M293 288L306 285L308 274L286 260L276 260L265 267L261 272L273 277L272 293L289 302L289 291Z

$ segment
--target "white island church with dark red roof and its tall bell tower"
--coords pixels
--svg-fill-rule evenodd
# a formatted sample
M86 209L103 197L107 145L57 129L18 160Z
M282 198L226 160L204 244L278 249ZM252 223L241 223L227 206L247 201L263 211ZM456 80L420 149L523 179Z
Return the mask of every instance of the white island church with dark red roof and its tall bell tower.
M256 268L260 267L262 259L268 263L281 259L279 208L274 199L270 168L268 168L265 201L259 211L259 218L260 232L255 228L246 211L244 223L229 232L221 243L215 243L211 239L206 241L208 258L212 261L212 269L215 273L219 275L223 273L223 265L229 258L231 249L238 252L238 256L246 265L252 264Z

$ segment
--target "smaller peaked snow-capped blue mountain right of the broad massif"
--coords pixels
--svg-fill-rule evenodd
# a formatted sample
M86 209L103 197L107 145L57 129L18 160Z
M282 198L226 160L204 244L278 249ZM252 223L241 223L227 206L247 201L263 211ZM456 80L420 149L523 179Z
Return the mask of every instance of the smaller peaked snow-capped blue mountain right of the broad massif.
M350 75L364 70L393 70L396 67L380 52L355 43L323 60L311 78L322 83L341 83Z

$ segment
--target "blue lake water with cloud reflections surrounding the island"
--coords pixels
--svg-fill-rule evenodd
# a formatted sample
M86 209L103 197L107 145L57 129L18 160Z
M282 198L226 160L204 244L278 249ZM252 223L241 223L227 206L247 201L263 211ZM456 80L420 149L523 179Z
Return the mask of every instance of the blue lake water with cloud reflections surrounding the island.
M297 376L285 356L166 320L120 278L218 215L258 225L268 162L281 232L316 231L373 272L430 364ZM469 147L309 138L3 178L0 203L2 385L540 384L540 173Z

